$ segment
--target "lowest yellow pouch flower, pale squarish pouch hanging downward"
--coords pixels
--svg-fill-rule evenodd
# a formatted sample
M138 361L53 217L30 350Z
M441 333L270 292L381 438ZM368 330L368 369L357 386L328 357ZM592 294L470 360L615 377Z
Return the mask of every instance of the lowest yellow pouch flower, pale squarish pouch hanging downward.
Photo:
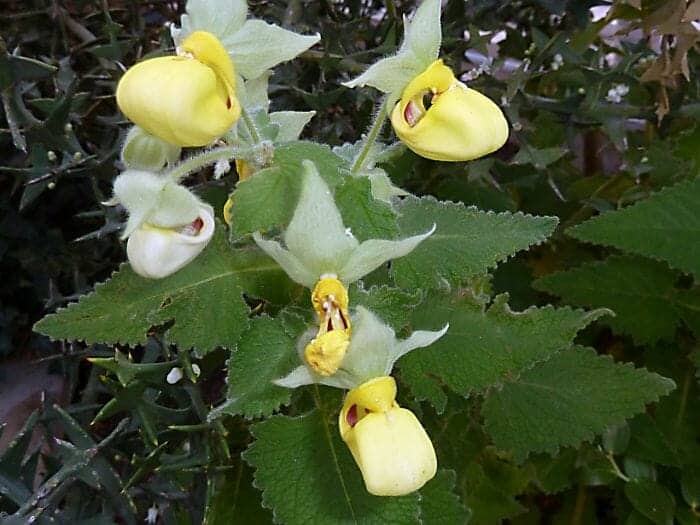
M396 403L393 377L377 377L352 389L339 425L369 493L402 496L435 476L433 444L413 412Z

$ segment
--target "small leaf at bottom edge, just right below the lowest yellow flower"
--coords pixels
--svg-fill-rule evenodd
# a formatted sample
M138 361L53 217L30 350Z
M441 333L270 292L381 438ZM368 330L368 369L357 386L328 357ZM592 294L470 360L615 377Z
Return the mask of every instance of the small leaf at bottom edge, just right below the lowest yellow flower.
M459 501L453 492L455 472L441 470L420 490L422 525L464 525L471 511Z

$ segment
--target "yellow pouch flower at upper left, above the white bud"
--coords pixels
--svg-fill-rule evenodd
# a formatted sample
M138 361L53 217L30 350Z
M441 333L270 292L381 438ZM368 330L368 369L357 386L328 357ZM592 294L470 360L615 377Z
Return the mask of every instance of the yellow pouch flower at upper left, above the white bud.
M152 58L130 68L117 86L117 104L148 133L177 146L205 146L241 114L233 63L211 33L196 31L184 56Z

